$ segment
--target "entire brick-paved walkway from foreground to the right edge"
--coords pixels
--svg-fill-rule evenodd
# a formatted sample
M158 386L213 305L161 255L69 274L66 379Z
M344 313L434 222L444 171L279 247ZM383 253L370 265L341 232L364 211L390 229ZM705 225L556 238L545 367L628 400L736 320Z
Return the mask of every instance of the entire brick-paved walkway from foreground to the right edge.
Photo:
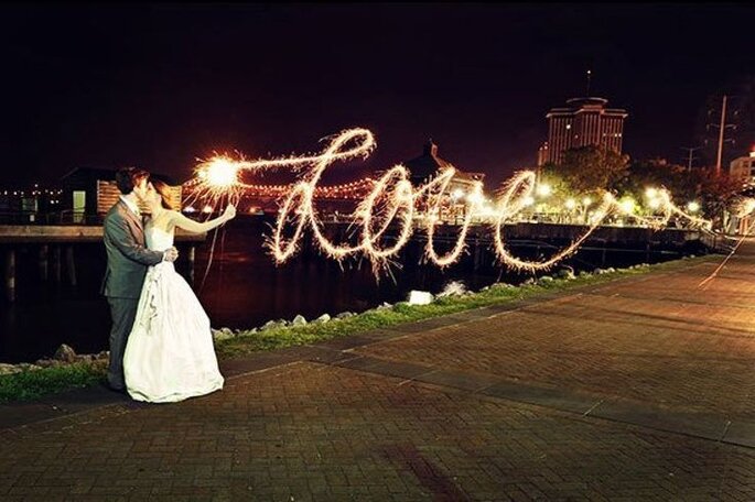
M0 500L752 501L755 243L720 261L0 406Z

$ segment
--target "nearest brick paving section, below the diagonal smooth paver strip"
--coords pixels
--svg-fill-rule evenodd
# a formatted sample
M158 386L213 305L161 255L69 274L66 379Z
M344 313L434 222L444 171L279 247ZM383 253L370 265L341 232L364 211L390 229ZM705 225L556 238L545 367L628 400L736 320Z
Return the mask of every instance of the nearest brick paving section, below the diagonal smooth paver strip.
M755 450L312 362L3 435L2 500L753 500Z

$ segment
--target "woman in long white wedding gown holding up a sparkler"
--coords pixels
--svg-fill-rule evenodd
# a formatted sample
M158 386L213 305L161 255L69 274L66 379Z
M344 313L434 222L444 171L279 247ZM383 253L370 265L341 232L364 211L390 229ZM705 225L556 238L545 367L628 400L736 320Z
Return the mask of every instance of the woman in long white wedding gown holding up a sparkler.
M191 220L171 208L165 183L154 178L150 183L154 189L148 188L151 219L144 237L151 250L171 248L175 227L206 232L236 216L236 208L228 206L213 220ZM223 389L209 318L172 262L150 266L147 272L123 353L123 374L126 389L136 401L170 403Z

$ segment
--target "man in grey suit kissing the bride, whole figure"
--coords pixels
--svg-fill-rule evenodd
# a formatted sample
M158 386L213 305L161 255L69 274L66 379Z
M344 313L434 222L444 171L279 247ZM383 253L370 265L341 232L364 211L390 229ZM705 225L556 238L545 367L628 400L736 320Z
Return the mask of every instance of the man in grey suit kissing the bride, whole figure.
M110 363L108 384L114 391L126 390L123 379L123 351L137 316L141 287L149 265L175 261L179 251L152 251L144 242L144 228L139 201L154 188L147 171L126 167L116 173L120 199L105 216L104 238L108 266L103 280L103 291L110 304L112 329L110 330Z

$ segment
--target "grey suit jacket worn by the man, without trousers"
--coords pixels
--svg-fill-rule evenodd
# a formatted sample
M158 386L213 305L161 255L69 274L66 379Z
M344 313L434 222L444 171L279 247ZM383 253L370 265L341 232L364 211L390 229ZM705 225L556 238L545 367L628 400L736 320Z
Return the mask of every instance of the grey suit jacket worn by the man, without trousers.
M162 251L147 249L141 218L119 200L105 216L108 266L101 293L115 298L139 298L147 266L162 261Z

